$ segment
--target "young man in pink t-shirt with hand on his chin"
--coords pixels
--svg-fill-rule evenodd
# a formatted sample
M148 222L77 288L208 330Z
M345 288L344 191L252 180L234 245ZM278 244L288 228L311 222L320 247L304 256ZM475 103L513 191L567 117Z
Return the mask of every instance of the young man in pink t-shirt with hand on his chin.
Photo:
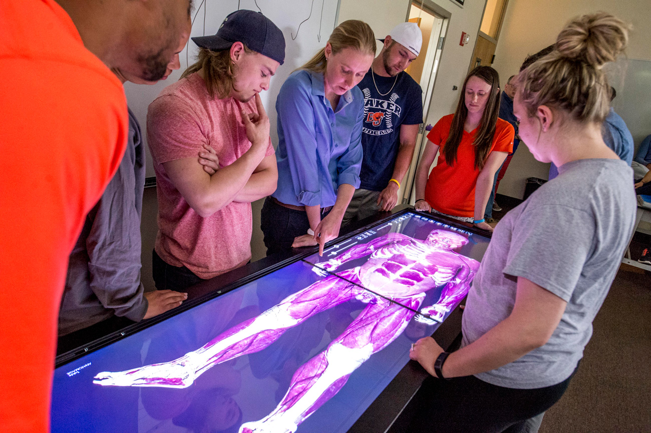
M284 61L283 33L238 10L217 35L192 38L197 63L147 113L158 189L153 270L160 290L184 290L251 259L251 202L278 178L259 92ZM218 161L214 171L206 160Z

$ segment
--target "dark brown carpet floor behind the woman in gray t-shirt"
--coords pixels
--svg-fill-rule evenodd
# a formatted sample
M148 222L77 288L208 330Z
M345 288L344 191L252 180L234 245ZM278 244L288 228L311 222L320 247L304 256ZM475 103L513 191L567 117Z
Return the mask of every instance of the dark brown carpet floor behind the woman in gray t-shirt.
M651 273L622 264L593 327L540 433L651 432Z

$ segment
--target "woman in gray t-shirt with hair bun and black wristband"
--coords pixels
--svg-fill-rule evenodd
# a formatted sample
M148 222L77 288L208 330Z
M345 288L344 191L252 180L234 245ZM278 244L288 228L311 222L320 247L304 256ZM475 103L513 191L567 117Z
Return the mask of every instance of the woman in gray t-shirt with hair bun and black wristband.
M559 176L497 225L468 294L462 348L421 339L411 358L438 378L410 431L522 432L564 393L633 231L631 168L603 143L601 66L628 27L599 12L572 21L516 79L519 135Z

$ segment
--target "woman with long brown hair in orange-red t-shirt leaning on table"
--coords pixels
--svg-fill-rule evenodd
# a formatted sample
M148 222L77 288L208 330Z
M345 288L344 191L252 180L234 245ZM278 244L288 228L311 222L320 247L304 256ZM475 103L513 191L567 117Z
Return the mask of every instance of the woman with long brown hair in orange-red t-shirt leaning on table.
M417 210L493 230L484 221L484 210L495 173L512 151L515 135L513 126L498 119L498 113L499 75L490 66L478 66L465 78L456 112L442 117L427 134L416 169Z

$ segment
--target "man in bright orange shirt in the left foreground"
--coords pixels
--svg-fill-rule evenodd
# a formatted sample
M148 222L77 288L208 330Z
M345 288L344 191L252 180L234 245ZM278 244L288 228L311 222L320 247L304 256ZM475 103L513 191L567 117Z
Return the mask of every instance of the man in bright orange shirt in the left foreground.
M109 67L159 79L189 0L0 2L0 430L46 432L57 312L128 118ZM103 63L104 62L104 63Z

